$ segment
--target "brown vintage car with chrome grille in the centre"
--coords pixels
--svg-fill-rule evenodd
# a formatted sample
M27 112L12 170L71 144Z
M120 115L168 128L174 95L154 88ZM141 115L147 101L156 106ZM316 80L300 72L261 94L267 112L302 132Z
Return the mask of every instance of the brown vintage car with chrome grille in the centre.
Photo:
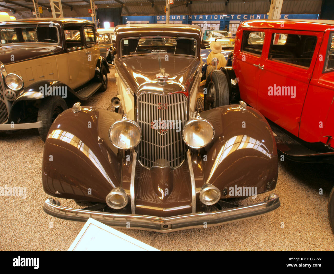
M115 33L117 96L108 109L64 111L44 148L44 191L88 207L48 198L44 211L170 232L278 208L274 193L249 205L230 202L276 187L277 149L266 119L242 101L200 111L200 28L118 26Z

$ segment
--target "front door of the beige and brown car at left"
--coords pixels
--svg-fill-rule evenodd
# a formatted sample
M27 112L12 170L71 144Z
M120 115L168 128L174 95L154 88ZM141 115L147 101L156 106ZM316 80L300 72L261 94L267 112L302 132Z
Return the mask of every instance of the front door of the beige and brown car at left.
M88 82L89 65L85 46L85 34L82 25L64 25L65 46L67 50L68 83L75 89ZM61 68L58 67L59 70Z

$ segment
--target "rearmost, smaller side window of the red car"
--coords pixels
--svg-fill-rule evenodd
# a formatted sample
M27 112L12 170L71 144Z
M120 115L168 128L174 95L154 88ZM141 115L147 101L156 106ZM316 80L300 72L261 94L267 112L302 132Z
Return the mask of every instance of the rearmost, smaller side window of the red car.
M264 32L245 30L242 33L241 51L261 55L264 40Z

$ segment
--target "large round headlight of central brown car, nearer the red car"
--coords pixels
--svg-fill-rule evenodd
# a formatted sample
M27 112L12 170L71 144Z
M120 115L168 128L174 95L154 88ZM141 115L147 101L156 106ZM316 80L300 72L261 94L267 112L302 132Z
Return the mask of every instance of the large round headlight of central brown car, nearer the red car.
M203 118L189 120L183 127L183 141L193 149L200 149L210 144L213 136L212 124Z

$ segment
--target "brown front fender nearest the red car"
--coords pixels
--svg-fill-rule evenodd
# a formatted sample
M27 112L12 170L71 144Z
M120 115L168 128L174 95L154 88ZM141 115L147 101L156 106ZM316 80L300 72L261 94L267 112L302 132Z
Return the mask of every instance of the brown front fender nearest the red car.
M206 183L218 187L222 197L236 196L229 195L230 187L235 185L257 187L257 194L276 187L276 143L260 112L251 107L244 110L240 105L227 105L201 112L200 116L211 122L215 130L213 141L202 152L206 155Z

